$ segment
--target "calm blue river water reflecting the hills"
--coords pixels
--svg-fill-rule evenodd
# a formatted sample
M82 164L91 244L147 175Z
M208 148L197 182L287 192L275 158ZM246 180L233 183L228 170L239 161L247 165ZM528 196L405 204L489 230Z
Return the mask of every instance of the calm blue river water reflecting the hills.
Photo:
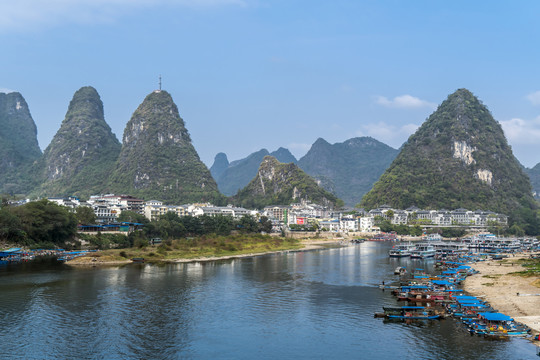
M0 268L8 359L531 359L458 321L385 322L390 243L173 265Z

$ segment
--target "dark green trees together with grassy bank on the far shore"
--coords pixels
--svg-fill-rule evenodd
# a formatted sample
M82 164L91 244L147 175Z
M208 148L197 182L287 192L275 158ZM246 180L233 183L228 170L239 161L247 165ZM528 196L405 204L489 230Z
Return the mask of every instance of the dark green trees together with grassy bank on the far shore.
M88 208L89 209L89 208ZM28 248L117 249L111 255L132 253L132 257L179 258L223 256L291 249L298 243L270 233L272 222L267 217L253 216L182 216L167 213L157 220L123 212L120 221L141 223L140 230L130 233L83 234L77 224L93 219L88 211L72 212L48 200L0 209L0 241ZM159 246L150 246L157 243ZM130 256L131 256L130 255ZM129 257L129 256L128 256Z

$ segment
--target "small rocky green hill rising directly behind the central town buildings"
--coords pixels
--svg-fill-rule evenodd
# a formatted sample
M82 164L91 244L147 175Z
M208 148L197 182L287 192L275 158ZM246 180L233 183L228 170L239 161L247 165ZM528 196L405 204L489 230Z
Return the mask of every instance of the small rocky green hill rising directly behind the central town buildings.
M339 202L296 164L283 164L272 156L264 157L255 178L233 199L252 208L286 205L302 199L326 206L335 206Z

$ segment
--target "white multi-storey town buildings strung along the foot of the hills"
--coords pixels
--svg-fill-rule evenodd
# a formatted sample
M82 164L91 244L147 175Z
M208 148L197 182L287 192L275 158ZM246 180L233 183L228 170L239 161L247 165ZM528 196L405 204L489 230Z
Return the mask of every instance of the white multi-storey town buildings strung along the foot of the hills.
M225 215L241 218L245 215L254 217L266 216L272 220L273 231L286 230L320 230L330 232L360 232L377 234L381 231L377 225L381 220L388 220L392 225L420 225L422 228L437 227L467 227L472 231L481 231L489 226L506 226L508 217L491 211L482 210L422 210L410 207L405 210L381 206L377 209L364 211L348 209L335 211L311 202L300 202L291 205L266 206L261 210L250 210L241 207L213 206L212 204L183 204L164 205L159 200L144 201L129 195L93 195L86 202L77 197L48 198L71 209L80 206L90 207L96 216L96 224L80 224L79 229L96 228L118 223L118 217L123 211L132 211L144 215L148 220L156 220L168 212L178 216L215 216ZM17 202L25 203L29 200Z

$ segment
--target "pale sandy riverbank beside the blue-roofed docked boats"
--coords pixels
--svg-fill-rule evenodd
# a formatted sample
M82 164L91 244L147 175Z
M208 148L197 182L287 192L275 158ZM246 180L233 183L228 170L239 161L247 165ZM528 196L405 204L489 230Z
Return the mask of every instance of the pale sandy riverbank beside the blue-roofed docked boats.
M467 277L463 289L474 296L483 296L497 311L540 333L540 277L522 277L510 273L523 271L518 259L530 255L509 257L506 261L478 262L472 267L478 274Z

